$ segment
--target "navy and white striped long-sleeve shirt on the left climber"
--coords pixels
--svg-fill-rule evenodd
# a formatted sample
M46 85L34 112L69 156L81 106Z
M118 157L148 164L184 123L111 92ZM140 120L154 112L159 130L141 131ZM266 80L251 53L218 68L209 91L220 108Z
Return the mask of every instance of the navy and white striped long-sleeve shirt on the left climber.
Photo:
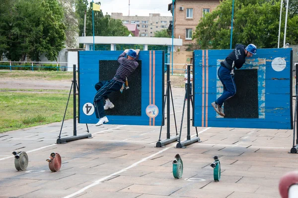
M129 60L125 57L125 55L126 53L123 52L118 57L120 66L118 67L116 75L114 77L116 81L119 81L121 83L125 83L125 77L131 75L139 66L139 63L137 62L137 60L139 59L139 55L137 55L137 58L135 58L135 60Z

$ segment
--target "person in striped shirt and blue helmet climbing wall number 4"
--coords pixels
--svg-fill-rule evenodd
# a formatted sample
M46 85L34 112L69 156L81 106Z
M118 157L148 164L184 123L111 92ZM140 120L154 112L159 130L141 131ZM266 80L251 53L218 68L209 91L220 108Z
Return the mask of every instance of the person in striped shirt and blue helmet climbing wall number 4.
M112 92L117 92L122 88L123 83L125 83L125 77L131 75L139 66L140 50L126 49L118 57L118 62L120 66L117 69L115 77L110 81L100 81L94 86L97 93L94 96L93 104L95 107L95 115L98 118L98 122L95 126L100 126L107 123L109 120L106 117L104 110L113 108L114 104L109 100L108 95ZM127 58L125 57L127 55ZM105 105L103 106L103 99L105 99Z

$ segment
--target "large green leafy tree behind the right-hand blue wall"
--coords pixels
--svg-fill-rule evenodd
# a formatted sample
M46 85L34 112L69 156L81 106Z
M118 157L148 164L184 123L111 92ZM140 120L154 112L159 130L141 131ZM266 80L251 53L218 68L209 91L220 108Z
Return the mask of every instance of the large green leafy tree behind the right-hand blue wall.
M201 19L193 34L193 39L196 39L202 49L229 49L231 13L232 0L224 0L216 10ZM280 1L278 0L236 0L232 47L236 43L254 43L258 48L277 47L279 13ZM285 12L283 13L282 24L284 26ZM287 41L291 38L292 45L298 43L298 34L294 28L297 25L295 24L297 24L297 18L289 17ZM283 38L282 31L281 38Z

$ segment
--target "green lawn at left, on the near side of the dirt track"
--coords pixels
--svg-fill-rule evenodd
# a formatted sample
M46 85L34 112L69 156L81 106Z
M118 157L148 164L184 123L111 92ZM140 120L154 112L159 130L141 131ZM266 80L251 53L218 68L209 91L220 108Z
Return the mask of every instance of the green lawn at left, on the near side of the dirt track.
M0 95L0 133L63 120L68 95L2 92ZM73 118L73 100L65 119Z

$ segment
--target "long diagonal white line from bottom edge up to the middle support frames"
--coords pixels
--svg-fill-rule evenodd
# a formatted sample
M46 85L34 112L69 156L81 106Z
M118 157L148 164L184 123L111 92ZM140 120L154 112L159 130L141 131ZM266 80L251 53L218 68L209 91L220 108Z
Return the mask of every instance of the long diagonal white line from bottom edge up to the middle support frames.
M122 173L122 172L124 172L124 171L127 171L127 170L129 170L129 169L131 169L131 168L137 166L138 164L140 164L140 163L142 163L142 162L145 162L145 161L148 160L149 158L152 158L152 157L154 157L155 155L158 155L158 154L160 154L160 153L162 153L162 152L164 152L164 151L166 151L166 150L168 150L168 149L170 149L170 148L172 148L172 147L167 147L167 148L165 148L165 149L162 149L161 151L158 151L157 153L154 153L154 154L150 155L149 157L146 157L146 158L140 160L139 162L136 162L136 163L132 164L131 166L126 167L125 169L122 169L121 171L118 171L118 172L113 173L113 174L111 174L111 175L109 175L109 176L106 176L106 177L104 177L104 178L101 178L101 179L99 179L99 180L96 180L95 182L93 182L92 184L86 186L85 188L82 188L81 190L79 190L79 191L77 191L77 192L75 192L75 193L73 193L73 194L71 194L71 195L69 195L69 196L66 196L66 197L64 197L64 198L72 198L72 197L74 197L74 196L76 196L76 195L78 195L78 194L84 192L85 190L87 190L87 189L89 189L89 188L91 188L91 187L93 187L93 186L96 186L96 185L98 185L98 184L101 184L102 181L104 181L104 180L106 180L106 179L108 179L108 178L110 178L110 177L112 177L112 176L114 176L114 175L117 175L117 174L119 174L119 173Z

